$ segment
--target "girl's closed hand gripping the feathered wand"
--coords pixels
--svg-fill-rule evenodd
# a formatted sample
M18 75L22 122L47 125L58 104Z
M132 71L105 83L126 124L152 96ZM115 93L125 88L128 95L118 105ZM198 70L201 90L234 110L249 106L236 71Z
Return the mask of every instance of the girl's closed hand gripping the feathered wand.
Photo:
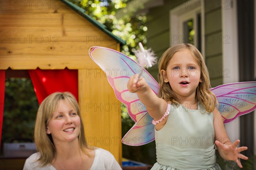
M131 76L128 83L127 88L131 93L136 93L141 88L146 87L147 82L143 77L140 77L138 74L135 74L134 76Z

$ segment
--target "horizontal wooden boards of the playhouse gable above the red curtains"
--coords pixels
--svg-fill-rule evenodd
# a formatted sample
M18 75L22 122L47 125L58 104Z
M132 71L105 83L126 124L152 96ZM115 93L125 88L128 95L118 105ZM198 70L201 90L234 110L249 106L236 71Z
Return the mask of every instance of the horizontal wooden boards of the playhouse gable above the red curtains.
M26 3L25 9L19 1L5 2L12 5L1 6L0 11L0 69L98 68L90 59L88 49L118 46L61 1L38 0L31 5L22 1ZM37 8L44 4L44 8L37 10L35 4ZM36 59L40 62L35 62Z

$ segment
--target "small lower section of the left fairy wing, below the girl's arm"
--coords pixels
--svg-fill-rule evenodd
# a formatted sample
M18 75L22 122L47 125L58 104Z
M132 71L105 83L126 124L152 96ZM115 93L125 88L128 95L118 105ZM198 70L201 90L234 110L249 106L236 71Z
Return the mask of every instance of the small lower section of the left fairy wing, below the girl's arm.
M154 125L152 118L145 113L122 138L122 143L130 146L140 146L154 141Z

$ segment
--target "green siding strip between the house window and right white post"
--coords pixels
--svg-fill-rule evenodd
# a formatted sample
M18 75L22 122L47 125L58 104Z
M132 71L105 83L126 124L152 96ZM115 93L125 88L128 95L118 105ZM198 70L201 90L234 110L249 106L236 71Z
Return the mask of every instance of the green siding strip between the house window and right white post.
M209 70L211 86L221 85L222 69L222 26L221 1L205 0L205 60Z

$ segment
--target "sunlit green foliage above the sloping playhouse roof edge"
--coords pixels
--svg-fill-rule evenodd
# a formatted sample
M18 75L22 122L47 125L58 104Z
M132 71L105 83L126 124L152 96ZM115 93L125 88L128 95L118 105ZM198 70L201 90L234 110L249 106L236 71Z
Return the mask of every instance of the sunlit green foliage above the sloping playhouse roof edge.
M114 35L125 40L127 44L121 47L123 54L135 59L133 51L139 49L138 43L146 44L146 16L125 15L121 19L115 16L118 10L127 7L128 0L70 0L70 2L84 8L86 14L107 26Z

